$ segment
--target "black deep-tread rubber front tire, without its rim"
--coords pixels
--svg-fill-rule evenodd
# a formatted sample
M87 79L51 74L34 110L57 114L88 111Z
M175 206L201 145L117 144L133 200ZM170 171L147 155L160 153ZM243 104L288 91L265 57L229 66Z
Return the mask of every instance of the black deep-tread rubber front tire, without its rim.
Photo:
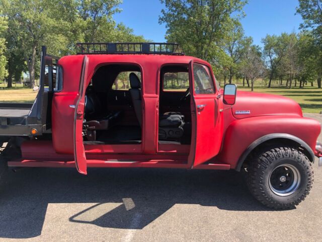
M269 186L271 172L279 165L291 164L300 173L300 185L289 196L273 193ZM247 185L253 196L267 207L292 209L309 194L313 184L313 170L309 159L299 150L291 147L273 148L258 152L249 162Z

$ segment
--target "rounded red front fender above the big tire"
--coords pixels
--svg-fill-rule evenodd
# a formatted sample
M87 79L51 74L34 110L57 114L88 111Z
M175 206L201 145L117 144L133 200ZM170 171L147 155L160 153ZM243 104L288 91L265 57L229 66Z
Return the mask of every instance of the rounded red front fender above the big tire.
M293 136L298 142L300 140L303 142L302 146L306 144L310 152L315 148L320 129L320 124L316 120L299 116L270 115L237 119L227 128L222 149L216 160L238 169L237 163L245 156L245 152L250 150L248 148L255 141L272 134L284 134L284 138Z

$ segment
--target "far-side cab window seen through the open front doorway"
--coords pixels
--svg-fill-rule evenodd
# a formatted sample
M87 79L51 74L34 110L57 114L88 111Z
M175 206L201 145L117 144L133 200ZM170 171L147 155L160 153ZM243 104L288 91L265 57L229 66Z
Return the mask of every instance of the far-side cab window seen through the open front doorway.
M164 91L185 92L188 87L188 72L166 72L163 76Z

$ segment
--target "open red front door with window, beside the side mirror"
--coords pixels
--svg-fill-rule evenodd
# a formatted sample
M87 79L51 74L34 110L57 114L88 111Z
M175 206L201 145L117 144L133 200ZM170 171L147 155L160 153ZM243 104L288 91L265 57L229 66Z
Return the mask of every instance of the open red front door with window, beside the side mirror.
M223 117L222 100L217 96L213 74L207 65L190 63L192 139L188 162L191 168L218 154Z

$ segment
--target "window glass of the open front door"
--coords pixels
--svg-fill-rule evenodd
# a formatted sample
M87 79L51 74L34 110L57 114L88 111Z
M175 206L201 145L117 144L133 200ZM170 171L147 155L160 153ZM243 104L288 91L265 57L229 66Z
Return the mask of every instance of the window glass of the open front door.
M193 65L193 76L194 76L194 88L196 94L213 94L215 88L213 80L211 78L211 72L209 67L194 64Z

